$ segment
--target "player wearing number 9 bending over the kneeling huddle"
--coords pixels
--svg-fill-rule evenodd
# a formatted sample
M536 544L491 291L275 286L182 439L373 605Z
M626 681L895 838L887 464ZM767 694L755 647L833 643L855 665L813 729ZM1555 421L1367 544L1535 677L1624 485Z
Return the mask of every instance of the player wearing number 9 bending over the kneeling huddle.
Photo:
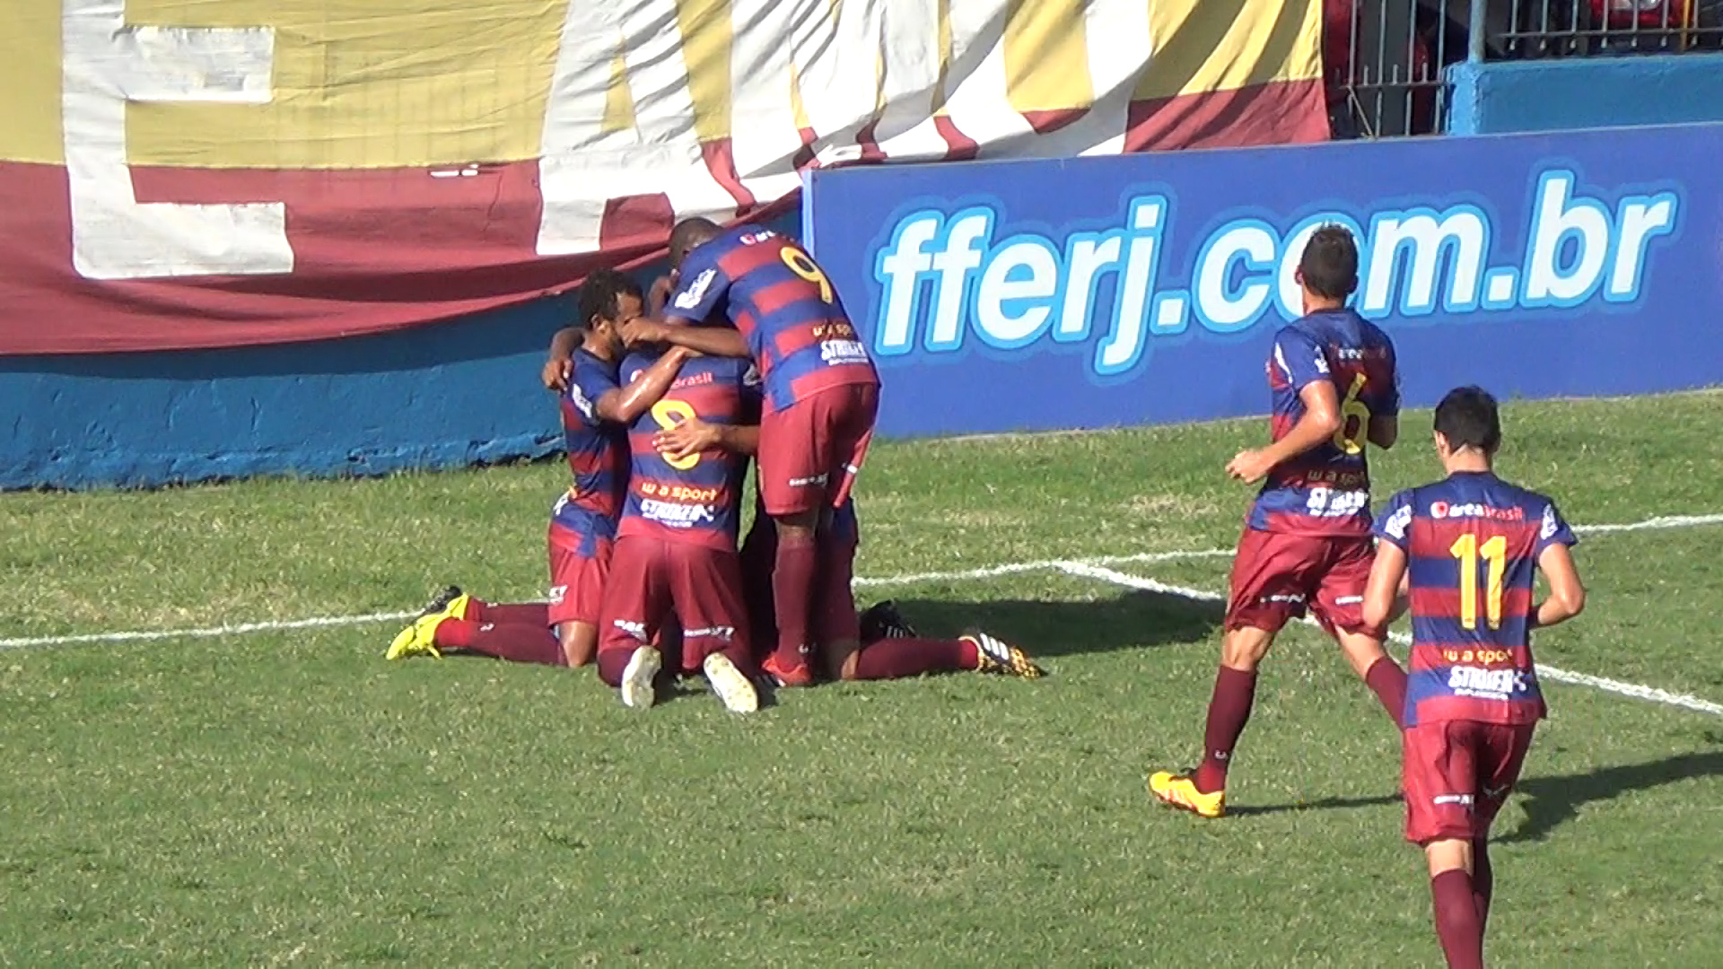
M720 229L686 219L670 233L670 266L663 319L636 319L624 336L631 345L750 357L760 367L760 491L777 526L777 647L765 669L786 686L808 686L818 572L844 553L820 533L830 529L867 455L879 374L830 279L794 241L758 226Z

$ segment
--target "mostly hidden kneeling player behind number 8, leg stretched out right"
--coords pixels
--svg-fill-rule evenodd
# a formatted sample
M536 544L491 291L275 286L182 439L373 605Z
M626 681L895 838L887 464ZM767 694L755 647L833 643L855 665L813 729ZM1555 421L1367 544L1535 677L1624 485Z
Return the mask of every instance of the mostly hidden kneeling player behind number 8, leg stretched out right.
M674 460L713 447L751 453L758 438L756 428L713 426L693 419L660 431L655 445ZM932 640L918 636L891 602L877 602L856 614L851 588L855 552L860 543L855 498L846 498L836 509L820 540L829 541L832 550L824 557L825 567L820 569L812 622L812 638L818 647L815 652L825 660L820 669L824 679L901 679L960 671L1025 679L1044 674L1023 650L980 629L970 629L956 640ZM777 528L772 517L763 507L756 509L753 526L743 541L741 564L750 624L762 666L770 660L777 647L772 602L775 545Z

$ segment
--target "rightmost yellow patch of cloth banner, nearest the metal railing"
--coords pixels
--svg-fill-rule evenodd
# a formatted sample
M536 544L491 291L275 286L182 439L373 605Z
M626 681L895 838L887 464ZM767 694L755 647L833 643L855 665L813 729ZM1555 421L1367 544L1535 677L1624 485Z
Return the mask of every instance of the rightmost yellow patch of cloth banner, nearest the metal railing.
M1149 0L1135 100L1322 78L1322 0Z

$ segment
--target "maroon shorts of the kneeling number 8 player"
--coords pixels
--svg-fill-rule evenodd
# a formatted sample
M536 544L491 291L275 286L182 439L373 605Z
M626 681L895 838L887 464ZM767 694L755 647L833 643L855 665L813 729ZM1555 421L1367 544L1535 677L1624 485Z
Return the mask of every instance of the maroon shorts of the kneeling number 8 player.
M658 641L669 622L682 628L682 655L665 666L696 671L706 655L748 643L748 610L736 552L629 535L610 555L610 583L598 622L598 652ZM748 671L744 671L748 672Z

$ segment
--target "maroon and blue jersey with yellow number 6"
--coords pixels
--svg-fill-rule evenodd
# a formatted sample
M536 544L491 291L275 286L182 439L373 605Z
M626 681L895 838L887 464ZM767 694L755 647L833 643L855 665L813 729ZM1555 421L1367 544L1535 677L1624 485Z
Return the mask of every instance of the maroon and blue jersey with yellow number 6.
M1299 393L1316 381L1334 384L1340 429L1268 472L1249 526L1284 535L1366 536L1370 419L1399 416L1394 343L1351 309L1313 312L1282 328L1268 355L1273 440L1287 436L1304 416Z

